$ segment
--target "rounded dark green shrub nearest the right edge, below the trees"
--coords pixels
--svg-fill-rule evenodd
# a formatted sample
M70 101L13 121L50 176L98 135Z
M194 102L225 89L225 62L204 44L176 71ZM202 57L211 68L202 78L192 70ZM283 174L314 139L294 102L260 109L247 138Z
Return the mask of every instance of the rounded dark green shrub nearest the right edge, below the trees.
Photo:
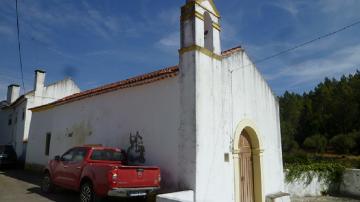
M334 136L330 145L338 154L349 154L356 148L356 136L352 133Z

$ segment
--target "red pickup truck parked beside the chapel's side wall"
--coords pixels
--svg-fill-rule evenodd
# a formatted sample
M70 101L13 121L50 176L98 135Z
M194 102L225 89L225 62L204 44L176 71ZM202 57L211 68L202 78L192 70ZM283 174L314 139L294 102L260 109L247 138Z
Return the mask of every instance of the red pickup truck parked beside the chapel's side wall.
M51 160L44 171L41 190L55 186L80 191L80 201L93 202L106 196L143 197L160 188L158 167L126 166L120 149L75 147Z

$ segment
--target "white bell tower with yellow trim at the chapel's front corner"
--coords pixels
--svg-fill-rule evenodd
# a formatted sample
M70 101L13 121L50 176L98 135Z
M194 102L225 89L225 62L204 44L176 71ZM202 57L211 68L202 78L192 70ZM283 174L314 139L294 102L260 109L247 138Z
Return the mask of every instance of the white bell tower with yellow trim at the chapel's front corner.
M180 189L194 190L194 201L210 200L206 187L213 161L208 157L219 146L223 128L220 30L212 0L187 0L181 8L178 179Z

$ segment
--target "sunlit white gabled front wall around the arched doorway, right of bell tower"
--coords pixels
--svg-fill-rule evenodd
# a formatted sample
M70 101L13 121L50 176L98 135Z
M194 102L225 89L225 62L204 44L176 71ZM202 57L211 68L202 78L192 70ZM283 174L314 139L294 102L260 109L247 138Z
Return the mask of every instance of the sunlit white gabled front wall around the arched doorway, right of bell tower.
M217 143L218 152L215 155L218 170L215 169L210 174L214 181L209 183L207 192L216 193L218 200L235 200L234 163L237 162L233 162L232 158L229 163L224 162L224 153L232 153L235 129L242 120L253 121L260 133L258 136L264 149L264 195L284 192L279 105L276 96L243 51L223 59L222 71L221 82L225 85L222 88L223 104L216 106L224 113L224 125L223 133L213 134L215 138L220 136L221 141ZM222 191L216 192L218 189Z

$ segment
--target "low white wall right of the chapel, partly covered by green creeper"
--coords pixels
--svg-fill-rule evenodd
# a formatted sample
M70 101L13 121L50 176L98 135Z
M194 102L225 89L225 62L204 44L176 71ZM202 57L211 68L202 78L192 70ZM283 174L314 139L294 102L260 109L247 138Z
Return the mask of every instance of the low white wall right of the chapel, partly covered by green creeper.
M285 183L285 189L291 196L321 196L326 193L360 197L360 169L347 169L339 185L329 185L315 176L310 183L305 175L295 182Z

